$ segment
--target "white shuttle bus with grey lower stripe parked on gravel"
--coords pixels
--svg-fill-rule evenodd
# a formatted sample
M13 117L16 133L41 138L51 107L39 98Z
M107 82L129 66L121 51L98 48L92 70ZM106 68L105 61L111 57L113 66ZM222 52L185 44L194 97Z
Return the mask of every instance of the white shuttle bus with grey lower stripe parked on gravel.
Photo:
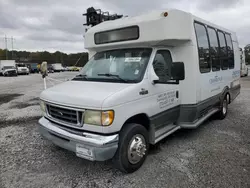
M41 95L42 136L131 173L149 145L212 115L240 93L236 34L180 10L106 21L85 35L90 60Z

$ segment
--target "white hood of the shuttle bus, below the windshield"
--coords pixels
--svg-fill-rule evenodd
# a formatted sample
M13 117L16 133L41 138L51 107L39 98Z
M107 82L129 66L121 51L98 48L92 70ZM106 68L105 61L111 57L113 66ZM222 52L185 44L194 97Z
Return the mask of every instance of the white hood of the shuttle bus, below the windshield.
M42 100L78 108L101 109L103 101L131 84L68 81L44 90Z

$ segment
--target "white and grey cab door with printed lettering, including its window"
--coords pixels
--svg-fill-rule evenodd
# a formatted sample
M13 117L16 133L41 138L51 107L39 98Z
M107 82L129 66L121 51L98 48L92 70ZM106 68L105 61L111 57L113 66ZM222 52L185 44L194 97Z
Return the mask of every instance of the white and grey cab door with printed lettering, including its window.
M172 57L169 50L157 50L153 61L153 69L159 82L151 84L152 127L155 140L175 129L175 122L180 112L179 84L169 84L171 78Z

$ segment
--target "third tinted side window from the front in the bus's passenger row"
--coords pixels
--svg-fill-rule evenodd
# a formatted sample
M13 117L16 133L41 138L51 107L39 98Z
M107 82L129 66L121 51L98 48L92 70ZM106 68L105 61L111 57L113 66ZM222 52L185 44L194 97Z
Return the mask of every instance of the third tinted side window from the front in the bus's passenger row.
M227 70L228 69L228 57L227 57L227 45L224 33L218 31L218 37L220 41L220 62L221 62L221 69Z

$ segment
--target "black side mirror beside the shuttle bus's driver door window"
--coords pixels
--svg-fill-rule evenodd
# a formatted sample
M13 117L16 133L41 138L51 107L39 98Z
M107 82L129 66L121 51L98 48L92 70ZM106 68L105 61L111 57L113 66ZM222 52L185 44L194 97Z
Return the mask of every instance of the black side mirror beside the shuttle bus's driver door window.
M171 66L171 80L184 80L185 68L183 62L173 62Z

